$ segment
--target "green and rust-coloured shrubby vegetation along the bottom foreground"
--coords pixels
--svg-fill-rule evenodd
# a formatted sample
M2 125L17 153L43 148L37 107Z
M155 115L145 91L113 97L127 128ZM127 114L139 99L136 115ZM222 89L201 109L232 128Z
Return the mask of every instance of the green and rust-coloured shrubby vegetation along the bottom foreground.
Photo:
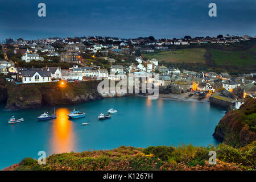
M210 165L209 151L216 151L217 164ZM158 146L135 148L121 146L113 150L53 154L45 165L26 158L5 170L255 170L256 142L233 148L226 144L217 147Z

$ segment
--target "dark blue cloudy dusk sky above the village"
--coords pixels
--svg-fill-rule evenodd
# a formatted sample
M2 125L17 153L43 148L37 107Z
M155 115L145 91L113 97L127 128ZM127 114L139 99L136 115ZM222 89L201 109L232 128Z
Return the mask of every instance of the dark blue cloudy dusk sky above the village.
M0 1L0 40L256 35L255 0ZM38 16L40 2L46 3L46 17ZM211 2L217 5L217 17L208 16Z

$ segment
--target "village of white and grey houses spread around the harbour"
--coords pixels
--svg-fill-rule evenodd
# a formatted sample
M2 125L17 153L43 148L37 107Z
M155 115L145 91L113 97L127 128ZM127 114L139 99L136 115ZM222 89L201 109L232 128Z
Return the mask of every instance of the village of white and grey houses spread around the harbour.
M161 60L145 59L143 52L170 51L172 46L189 44L230 44L255 39L250 36L218 35L216 38L120 39L101 36L88 38L46 38L38 40L6 39L2 44L5 60L0 60L1 75L16 84L42 82L79 82L89 80L121 80L122 75L159 74L159 93L165 98L212 98L213 104L239 108L246 97L256 96L255 75L230 76L228 72L188 71L162 64ZM9 59L11 52L12 59ZM122 56L122 57L120 57ZM13 58L15 57L15 58ZM127 57L127 60L123 57ZM20 67L19 63L60 63L57 67ZM70 67L63 68L61 64ZM26 65L24 64L24 65ZM116 76L118 74L118 76Z

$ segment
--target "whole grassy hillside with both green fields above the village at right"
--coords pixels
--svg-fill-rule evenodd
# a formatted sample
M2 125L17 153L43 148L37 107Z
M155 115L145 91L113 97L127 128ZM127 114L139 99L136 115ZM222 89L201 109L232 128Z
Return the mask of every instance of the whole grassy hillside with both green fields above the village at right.
M143 53L145 59L158 59L160 64L193 71L250 73L256 69L256 39L238 44L191 44L172 46L171 51Z

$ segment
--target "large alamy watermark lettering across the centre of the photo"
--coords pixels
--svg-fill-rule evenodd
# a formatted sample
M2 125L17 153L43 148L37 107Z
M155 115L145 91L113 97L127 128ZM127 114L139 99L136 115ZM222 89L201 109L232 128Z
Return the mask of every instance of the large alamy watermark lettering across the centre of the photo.
M156 100L159 96L159 74L129 73L128 77L124 74L110 74L109 78L110 81L105 79L98 84L98 93L102 95L148 93L150 100ZM115 81L119 82L115 84Z

